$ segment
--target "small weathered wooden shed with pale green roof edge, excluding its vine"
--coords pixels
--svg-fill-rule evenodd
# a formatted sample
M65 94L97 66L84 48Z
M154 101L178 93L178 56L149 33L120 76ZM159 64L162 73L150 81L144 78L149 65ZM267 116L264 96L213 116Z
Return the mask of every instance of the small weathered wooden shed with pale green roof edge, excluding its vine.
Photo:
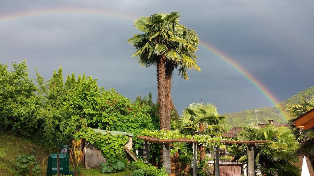
M133 133L131 132L116 132L116 131L106 131L100 129L94 129L95 132L100 132L102 134L122 134L129 137L129 141L125 144L125 146L132 151L132 140L133 140ZM92 144L86 143L85 144L85 168L98 168L101 163L106 163L106 158L101 155L100 150L95 148Z

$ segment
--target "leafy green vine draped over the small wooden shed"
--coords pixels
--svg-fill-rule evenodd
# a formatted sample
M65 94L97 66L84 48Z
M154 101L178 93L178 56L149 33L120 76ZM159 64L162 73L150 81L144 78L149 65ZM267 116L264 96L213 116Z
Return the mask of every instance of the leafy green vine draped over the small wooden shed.
M111 162L115 159L122 159L125 155L124 145L129 141L129 137L121 134L111 135L95 132L89 127L81 128L73 135L75 139L84 138L101 151L103 157Z

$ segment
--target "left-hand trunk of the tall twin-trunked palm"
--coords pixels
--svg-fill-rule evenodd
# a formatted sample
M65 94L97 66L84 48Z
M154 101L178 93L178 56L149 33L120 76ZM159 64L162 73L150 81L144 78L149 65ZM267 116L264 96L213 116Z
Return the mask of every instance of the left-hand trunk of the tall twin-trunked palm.
M158 115L160 129L166 129L166 99L165 99L165 55L157 62L157 90L158 90Z

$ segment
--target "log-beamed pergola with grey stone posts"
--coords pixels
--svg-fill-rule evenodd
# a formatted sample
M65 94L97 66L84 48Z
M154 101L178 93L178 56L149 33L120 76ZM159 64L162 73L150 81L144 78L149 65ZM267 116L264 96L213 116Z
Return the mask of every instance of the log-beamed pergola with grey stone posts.
M171 156L170 147L172 142L190 142L193 143L193 176L197 176L197 146L198 142L194 139L160 139L148 136L137 136L143 139L143 158L145 163L149 163L149 145L148 143L153 143L157 145L162 145L163 150L163 164L168 174L171 174ZM223 143L224 145L232 144L247 144L247 176L255 176L254 168L254 147L257 147L259 143L268 143L269 141L206 141L209 143ZM167 146L167 147L166 147ZM214 169L215 176L219 176L219 146L215 147L214 152Z

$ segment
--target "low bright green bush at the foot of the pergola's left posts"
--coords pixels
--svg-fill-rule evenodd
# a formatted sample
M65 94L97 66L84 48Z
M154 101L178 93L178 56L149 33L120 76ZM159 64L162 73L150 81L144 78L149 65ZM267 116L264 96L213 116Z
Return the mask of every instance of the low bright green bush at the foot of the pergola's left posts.
M168 176L165 168L157 169L152 165L145 164L143 161L136 161L129 164L129 168L134 170L143 170L146 176Z

